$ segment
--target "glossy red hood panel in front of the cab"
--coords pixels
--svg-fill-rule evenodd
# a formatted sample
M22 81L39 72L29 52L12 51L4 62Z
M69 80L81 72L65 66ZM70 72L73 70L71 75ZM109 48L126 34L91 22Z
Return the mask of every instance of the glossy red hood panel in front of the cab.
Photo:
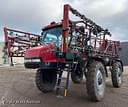
M63 62L64 59L56 57L53 44L43 44L38 47L28 49L25 58L41 58L43 62Z

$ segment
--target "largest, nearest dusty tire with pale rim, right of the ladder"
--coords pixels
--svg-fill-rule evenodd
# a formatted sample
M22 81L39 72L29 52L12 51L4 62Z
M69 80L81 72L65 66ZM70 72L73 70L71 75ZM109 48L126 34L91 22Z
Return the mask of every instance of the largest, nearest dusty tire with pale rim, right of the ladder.
M87 94L92 101L101 101L105 95L105 68L101 62L93 61L88 66L86 77Z

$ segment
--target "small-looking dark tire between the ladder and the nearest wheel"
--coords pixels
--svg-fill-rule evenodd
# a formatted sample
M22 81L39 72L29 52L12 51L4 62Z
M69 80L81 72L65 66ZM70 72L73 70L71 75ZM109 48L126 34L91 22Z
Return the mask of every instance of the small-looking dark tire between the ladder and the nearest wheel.
M75 84L81 83L81 81L83 79L83 72L82 72L82 70L80 70L79 67L77 67L76 70L71 72L71 79L72 79L73 83L75 83Z

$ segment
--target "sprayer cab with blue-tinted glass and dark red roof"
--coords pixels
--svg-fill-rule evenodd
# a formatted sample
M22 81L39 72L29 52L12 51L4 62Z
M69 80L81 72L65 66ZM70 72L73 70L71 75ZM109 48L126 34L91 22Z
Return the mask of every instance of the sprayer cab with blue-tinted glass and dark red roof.
M57 48L62 44L62 24L51 22L50 25L42 29L41 44L53 43Z

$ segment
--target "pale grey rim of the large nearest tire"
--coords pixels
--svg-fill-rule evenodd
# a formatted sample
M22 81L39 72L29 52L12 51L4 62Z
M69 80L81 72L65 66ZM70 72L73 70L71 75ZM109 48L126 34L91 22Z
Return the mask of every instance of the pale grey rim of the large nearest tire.
M97 70L97 74L96 74L96 90L99 95L104 94L105 80L104 80L103 74L100 70Z

